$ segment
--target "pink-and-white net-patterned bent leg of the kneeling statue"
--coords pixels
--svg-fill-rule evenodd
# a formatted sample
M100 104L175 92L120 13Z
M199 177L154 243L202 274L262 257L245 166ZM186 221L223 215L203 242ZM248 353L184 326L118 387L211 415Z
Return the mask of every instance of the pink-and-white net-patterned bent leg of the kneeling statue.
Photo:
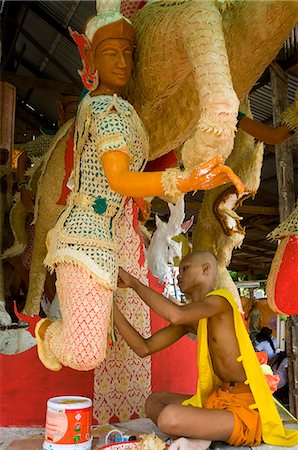
M58 264L56 274L63 322L47 328L46 345L64 366L93 369L106 354L113 293L79 266Z

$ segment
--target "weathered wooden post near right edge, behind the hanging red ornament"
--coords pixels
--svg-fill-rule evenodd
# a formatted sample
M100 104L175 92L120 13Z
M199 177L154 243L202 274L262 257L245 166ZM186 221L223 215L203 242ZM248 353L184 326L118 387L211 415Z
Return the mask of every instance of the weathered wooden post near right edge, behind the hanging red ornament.
M280 115L288 106L287 75L279 67L270 68L273 124L280 123ZM275 146L275 162L278 183L279 218L283 222L295 208L294 170L292 149L289 143ZM288 355L289 407L292 414L298 413L298 317L291 316L286 323L286 344Z

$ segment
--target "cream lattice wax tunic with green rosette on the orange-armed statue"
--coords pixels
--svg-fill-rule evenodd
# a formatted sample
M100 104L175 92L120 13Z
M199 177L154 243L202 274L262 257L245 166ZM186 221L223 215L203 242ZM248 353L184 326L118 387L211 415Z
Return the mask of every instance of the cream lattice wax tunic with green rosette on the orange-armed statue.
M115 227L125 196L113 191L101 157L118 150L130 157L130 170L144 168L147 133L134 108L117 96L87 94L79 107L74 136L74 190L68 207L48 235L45 263L72 262L91 271L103 286L115 289L118 262Z

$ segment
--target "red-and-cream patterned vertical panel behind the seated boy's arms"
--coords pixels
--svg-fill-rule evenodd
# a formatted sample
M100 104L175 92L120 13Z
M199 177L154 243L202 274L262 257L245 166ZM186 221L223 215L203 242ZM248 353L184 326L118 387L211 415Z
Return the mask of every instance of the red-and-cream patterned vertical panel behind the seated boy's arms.
M135 231L137 208L132 200L125 205L117 224L119 265L148 285L148 268L140 235ZM150 336L150 310L132 289L118 289L115 301L129 322ZM144 417L145 400L151 392L151 358L140 358L119 333L107 349L106 359L94 370L93 415L99 423L111 419L127 421Z

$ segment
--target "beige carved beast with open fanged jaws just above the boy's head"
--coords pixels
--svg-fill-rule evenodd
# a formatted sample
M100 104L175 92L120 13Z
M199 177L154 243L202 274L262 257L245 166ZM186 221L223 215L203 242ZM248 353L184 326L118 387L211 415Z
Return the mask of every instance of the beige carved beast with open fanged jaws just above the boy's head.
M248 105L241 105L241 111L250 115ZM193 234L195 251L212 252L218 261L216 286L232 292L238 308L242 310L239 293L226 267L229 265L235 247L240 247L245 237L237 207L245 198L256 194L263 163L263 143L239 130L235 146L227 164L242 178L246 191L238 196L233 187L219 186L204 195L200 215Z

